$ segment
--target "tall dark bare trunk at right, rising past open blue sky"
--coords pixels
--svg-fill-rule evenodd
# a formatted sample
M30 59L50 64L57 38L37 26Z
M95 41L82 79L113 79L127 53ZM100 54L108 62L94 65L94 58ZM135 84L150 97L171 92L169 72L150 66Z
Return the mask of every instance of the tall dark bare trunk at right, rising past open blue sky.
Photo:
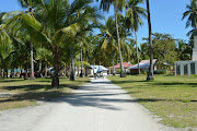
M150 8L149 8L149 0L147 0L147 12L148 12L148 23L149 23L149 45L150 45L150 67L147 80L154 80L153 76L153 51L152 51L152 31L151 31L151 20L150 20Z

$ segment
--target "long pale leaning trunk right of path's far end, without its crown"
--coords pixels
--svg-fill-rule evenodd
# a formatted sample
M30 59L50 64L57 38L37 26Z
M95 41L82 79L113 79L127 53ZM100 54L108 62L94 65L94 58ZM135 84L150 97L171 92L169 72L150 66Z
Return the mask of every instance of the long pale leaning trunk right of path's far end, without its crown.
M114 5L114 11L115 11L117 41L118 41L118 50L119 50L119 62L120 62L120 69L121 69L120 78L125 78L126 73L125 73L124 67L123 67L121 48L120 48L120 43L119 43L119 31L118 31L118 23L117 23L117 4L116 4L116 2L115 2L115 5Z

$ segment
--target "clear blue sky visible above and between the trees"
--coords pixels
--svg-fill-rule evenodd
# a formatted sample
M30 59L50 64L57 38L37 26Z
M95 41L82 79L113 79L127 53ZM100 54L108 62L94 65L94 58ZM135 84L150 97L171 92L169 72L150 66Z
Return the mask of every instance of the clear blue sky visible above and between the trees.
M189 0L150 0L152 33L169 33L174 38L188 40L186 34L190 28L185 28L185 21L182 21L183 13L186 11L186 4ZM99 2L94 3L99 5ZM146 3L141 7L146 8ZM21 10L18 0L0 0L0 11ZM102 11L101 11L102 12ZM114 15L114 9L109 12L102 12L105 17ZM142 37L148 37L148 22L138 32L138 41L143 43Z

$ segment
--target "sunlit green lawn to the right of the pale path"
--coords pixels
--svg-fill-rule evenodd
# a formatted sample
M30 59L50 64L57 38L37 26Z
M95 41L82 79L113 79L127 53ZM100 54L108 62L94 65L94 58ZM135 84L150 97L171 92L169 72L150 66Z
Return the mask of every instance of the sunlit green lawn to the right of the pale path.
M108 76L141 105L175 128L197 128L197 76L146 75Z

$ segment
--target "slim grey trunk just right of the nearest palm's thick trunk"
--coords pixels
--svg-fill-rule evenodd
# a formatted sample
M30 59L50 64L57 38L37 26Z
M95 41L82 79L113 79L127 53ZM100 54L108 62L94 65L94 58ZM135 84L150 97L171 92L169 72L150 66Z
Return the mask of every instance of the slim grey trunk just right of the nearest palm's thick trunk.
M74 81L76 80L76 73L74 73L74 60L73 60L73 47L72 47L72 44L70 46L70 56L71 56L70 81Z

